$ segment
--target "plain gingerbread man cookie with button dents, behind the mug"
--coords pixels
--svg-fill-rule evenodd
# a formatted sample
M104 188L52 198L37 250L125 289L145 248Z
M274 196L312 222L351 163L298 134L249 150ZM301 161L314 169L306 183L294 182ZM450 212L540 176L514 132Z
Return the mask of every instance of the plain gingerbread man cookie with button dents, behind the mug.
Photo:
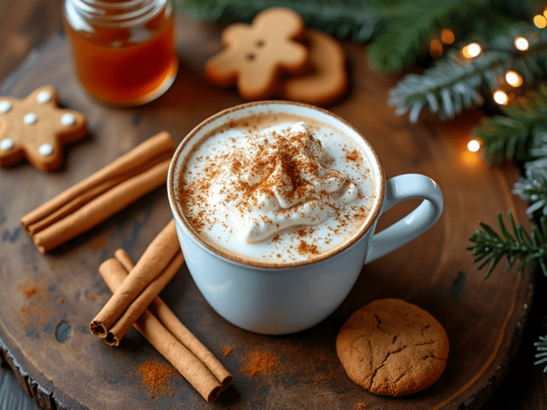
M236 84L246 100L264 100L276 93L281 73L306 68L308 51L295 40L303 38L304 22L295 11L273 7L252 24L234 23L222 32L226 48L205 66L205 75L222 86Z

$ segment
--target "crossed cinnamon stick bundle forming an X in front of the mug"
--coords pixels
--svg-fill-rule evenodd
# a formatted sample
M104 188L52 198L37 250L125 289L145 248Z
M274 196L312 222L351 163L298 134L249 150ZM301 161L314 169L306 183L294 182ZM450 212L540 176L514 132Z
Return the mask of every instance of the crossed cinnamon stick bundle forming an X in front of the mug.
M113 295L90 323L90 330L109 345L118 345L135 326L204 399L214 401L231 383L231 374L157 297L182 263L174 220L136 265L123 249L115 251L115 257L99 267Z

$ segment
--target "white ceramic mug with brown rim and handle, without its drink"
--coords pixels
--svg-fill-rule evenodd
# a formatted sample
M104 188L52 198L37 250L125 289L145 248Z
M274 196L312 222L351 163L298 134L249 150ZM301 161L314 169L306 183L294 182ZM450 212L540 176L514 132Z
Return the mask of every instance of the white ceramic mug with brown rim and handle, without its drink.
M291 113L327 123L358 142L370 161L375 200L370 219L348 246L325 258L296 266L264 268L241 263L206 243L185 219L176 187L184 159L192 147L215 127L234 118L259 113ZM194 282L219 315L252 332L280 335L305 330L325 319L343 302L363 264L380 258L427 231L442 213L442 194L429 177L404 174L385 181L370 142L340 117L311 105L285 101L250 102L229 108L197 125L175 152L167 177L170 206L182 252ZM405 199L423 199L405 218L380 233L380 215Z

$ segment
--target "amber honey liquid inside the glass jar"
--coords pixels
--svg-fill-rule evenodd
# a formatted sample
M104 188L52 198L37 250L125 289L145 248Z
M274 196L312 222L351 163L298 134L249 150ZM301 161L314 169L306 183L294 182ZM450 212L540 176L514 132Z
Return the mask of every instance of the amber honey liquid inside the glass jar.
M174 21L165 17L165 10L137 29L93 25L89 32L65 23L75 73L83 88L102 102L143 104L164 93L177 74ZM153 35L139 42L142 33Z

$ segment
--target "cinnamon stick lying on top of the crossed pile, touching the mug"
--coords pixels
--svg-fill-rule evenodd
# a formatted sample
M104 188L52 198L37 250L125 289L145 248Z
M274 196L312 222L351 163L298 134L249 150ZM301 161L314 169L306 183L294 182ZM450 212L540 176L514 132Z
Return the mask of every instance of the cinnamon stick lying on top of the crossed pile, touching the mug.
M167 226L165 226L165 228L158 233L158 235L146 248L145 252L135 265L135 268L132 268L127 276L127 280L123 281L120 288L115 291L100 312L98 312L98 314L90 322L89 329L93 335L107 337L108 330L113 327L115 322L118 321L125 310L127 310L135 299L137 299L140 293L142 293L142 291L145 290L145 288L147 288L147 286L150 285L155 278L160 276L162 273L165 273L166 268L170 266L178 253L180 253L180 245L177 238L177 231L175 231L174 228L174 220L171 219L169 224L167 224ZM176 273L184 261L182 258L182 253L181 258L177 261L179 261L180 264L178 267L174 268L172 275ZM155 288L157 293L159 293L161 289L162 288L160 288L160 285L157 285ZM157 293L155 295L157 295ZM125 319L131 320L131 317L135 317L134 315L136 315L136 312L139 310L140 313L142 313L147 307L147 304L142 304L146 303L147 298L149 297L150 294L146 298L142 298L142 300L140 300L141 304L135 306L135 310L132 311L130 317L125 317ZM153 297L150 300L152 299ZM127 325L122 325L120 329L123 330L125 326ZM115 336L113 339L114 338Z

